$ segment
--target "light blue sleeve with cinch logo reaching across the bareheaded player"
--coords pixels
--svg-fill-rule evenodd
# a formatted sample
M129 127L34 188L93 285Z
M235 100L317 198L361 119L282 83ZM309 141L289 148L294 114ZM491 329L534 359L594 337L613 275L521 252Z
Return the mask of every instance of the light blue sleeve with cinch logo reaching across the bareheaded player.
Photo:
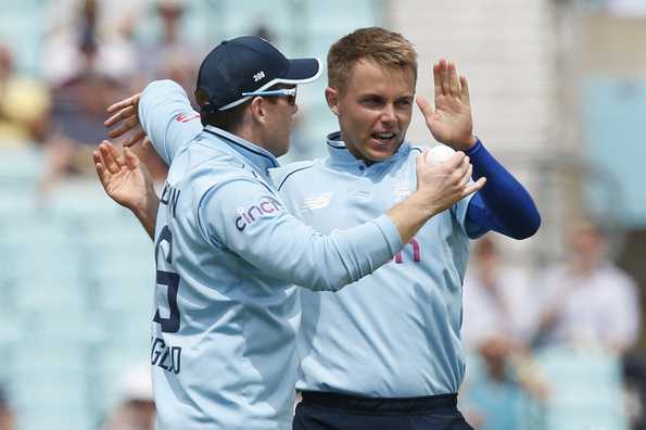
M199 205L203 236L264 273L311 290L341 289L390 262L402 242L382 216L325 236L290 215L254 178L210 188Z

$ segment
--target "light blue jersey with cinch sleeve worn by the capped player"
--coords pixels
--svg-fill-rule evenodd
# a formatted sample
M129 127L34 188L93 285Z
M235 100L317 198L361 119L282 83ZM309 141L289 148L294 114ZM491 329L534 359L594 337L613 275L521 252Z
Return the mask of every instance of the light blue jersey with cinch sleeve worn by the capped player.
M200 131L191 112L172 81L151 84L139 102L155 149L173 159L155 230L156 428L291 429L292 284L337 290L389 262L401 239L385 216L317 233L283 210L270 153L217 128Z

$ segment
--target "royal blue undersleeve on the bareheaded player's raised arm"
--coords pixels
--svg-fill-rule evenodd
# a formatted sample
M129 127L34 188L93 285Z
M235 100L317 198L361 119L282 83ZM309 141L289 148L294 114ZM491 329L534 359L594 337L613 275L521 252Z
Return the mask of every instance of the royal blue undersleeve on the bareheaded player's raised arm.
M480 140L466 154L473 166L472 179L486 178L484 187L469 201L467 219L481 230L494 230L514 239L533 236L541 226L541 215L524 187Z

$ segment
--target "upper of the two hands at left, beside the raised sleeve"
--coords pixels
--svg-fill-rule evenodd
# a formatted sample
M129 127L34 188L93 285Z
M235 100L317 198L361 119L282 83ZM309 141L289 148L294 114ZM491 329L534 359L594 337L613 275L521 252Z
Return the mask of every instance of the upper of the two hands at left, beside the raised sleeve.
M141 93L138 92L107 108L107 113L113 115L105 119L103 124L105 127L117 125L117 127L107 132L107 136L110 136L112 139L116 139L129 131L132 131L132 134L123 142L125 148L131 147L136 143L141 143L142 146L150 143L150 139L139 123L140 96Z

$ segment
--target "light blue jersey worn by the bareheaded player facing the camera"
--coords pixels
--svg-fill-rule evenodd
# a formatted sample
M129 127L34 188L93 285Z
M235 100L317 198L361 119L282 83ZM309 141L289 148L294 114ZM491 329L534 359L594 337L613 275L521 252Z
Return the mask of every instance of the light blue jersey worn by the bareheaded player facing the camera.
M290 212L307 225L321 232L350 228L416 189L419 148L404 143L391 159L366 166L339 134L329 139L328 159L273 172ZM468 202L431 218L393 262L353 288L300 291L297 389L380 397L458 391Z

